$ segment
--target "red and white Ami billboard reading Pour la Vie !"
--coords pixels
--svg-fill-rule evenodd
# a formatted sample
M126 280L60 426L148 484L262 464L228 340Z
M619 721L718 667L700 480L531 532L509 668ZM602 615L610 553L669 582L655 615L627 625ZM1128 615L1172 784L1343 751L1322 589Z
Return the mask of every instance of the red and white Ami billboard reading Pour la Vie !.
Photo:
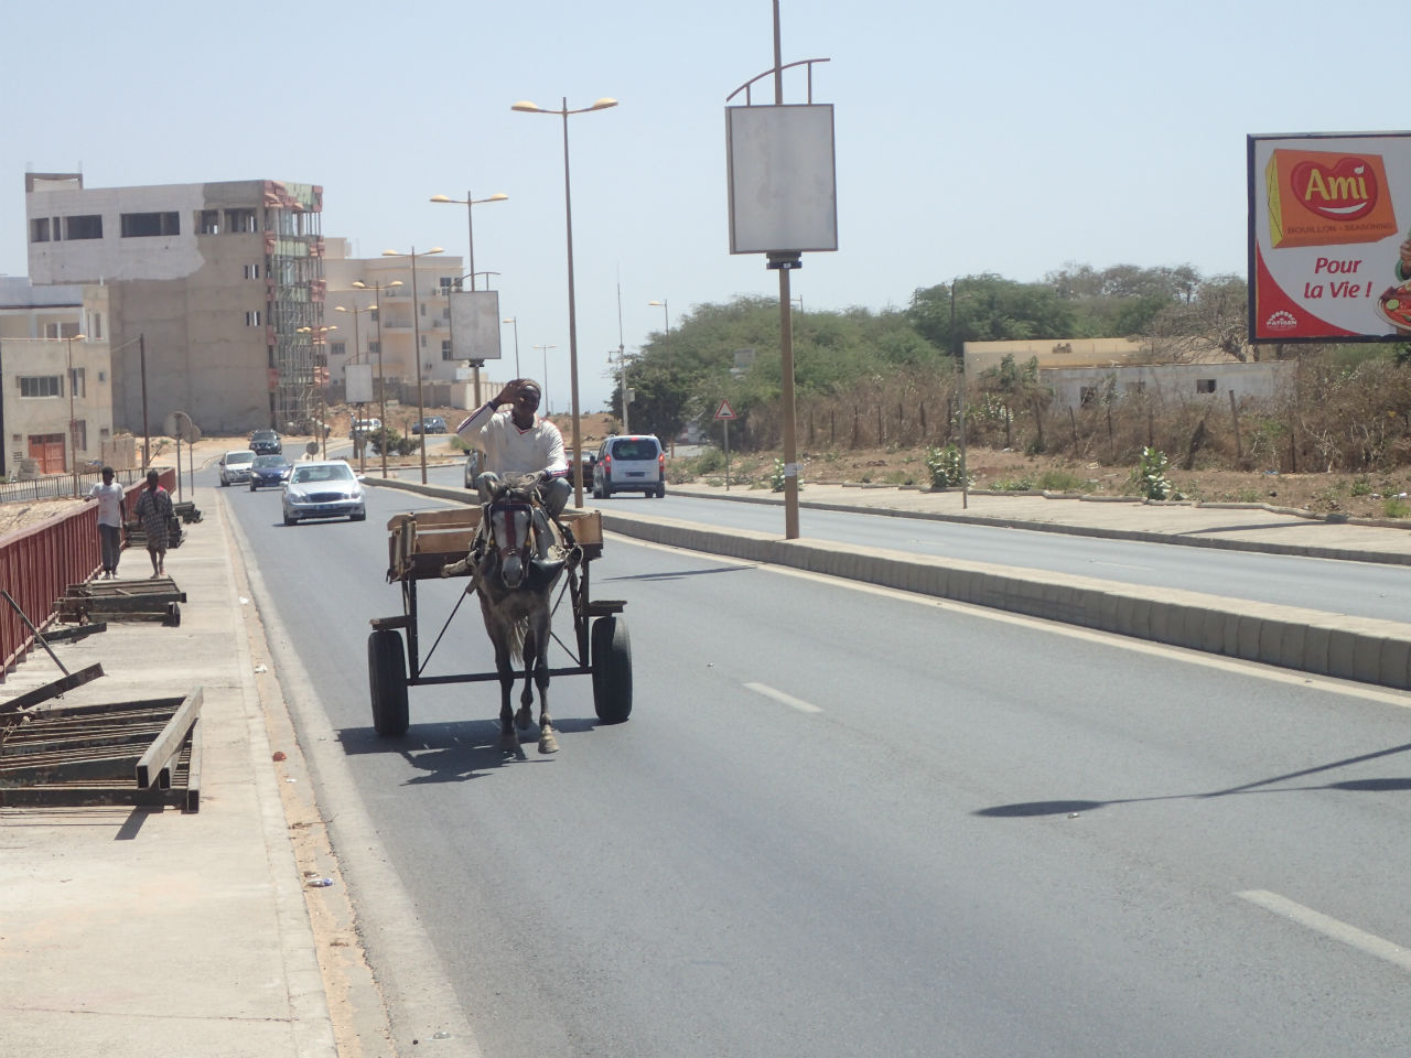
M1411 133L1247 151L1250 341L1411 340Z

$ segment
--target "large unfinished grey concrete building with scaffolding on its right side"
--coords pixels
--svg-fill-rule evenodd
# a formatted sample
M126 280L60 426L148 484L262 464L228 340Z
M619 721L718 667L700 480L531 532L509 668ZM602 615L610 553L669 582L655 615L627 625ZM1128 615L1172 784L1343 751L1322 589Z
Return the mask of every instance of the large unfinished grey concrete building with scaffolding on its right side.
M30 279L110 292L113 420L308 432L323 348L323 190L282 181L85 188L25 174Z

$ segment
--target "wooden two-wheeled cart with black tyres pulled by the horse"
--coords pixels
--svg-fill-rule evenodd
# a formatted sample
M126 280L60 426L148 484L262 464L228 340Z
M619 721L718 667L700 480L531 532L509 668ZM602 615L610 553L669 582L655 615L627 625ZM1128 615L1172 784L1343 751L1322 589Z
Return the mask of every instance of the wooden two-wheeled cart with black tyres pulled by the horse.
M399 738L408 728L406 688L480 683L501 679L499 671L436 674L426 673L432 653L446 635L460 601L446 618L426 656L418 619L416 585L422 580L447 577L446 567L466 559L480 528L481 508L450 508L395 515L388 523L387 577L402 590L398 616L373 618L367 639L368 684L373 697L373 726L382 738ZM593 509L567 509L560 515L573 533L574 546L556 583L552 611L567 609L571 635L552 632L552 640L567 653L569 664L549 667L549 676L591 676L593 707L605 724L619 724L632 712L632 646L619 600L594 600L590 594L593 560L602 556L602 516ZM452 574L464 581L470 568Z

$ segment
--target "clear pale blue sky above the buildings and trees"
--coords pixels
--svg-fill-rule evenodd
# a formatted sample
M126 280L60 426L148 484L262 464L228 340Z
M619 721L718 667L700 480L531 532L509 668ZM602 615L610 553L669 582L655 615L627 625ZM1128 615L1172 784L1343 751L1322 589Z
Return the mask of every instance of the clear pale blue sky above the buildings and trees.
M770 0L54 10L6 11L0 275L27 274L27 171L80 171L89 188L317 183L323 234L358 257L464 257L466 207L430 196L504 192L474 207L476 268L498 272L522 371L557 411L563 123L511 104L608 96L617 107L569 118L580 408L607 406L619 343L631 355L694 306L779 295L761 255L729 253L725 172L727 96L773 66ZM1249 134L1407 126L1395 69L1379 73L1374 41L1329 24L1326 3L779 10L783 62L827 59L813 102L835 109L838 250L792 274L806 313L902 309L954 276L1031 282L1067 264L1245 275ZM806 93L786 72L785 102Z

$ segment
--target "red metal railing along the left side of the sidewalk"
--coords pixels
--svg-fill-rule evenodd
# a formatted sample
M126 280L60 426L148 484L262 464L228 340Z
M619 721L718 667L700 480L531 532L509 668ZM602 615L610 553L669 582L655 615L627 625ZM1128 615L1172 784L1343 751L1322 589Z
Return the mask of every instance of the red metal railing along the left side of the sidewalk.
M168 491L175 488L176 471L162 471L161 484ZM128 515L141 488L131 485L127 490ZM0 536L0 588L10 592L24 616L40 629L54 619L55 601L69 585L86 581L100 564L96 504ZM0 680L32 646L34 633L10 604L0 600Z

